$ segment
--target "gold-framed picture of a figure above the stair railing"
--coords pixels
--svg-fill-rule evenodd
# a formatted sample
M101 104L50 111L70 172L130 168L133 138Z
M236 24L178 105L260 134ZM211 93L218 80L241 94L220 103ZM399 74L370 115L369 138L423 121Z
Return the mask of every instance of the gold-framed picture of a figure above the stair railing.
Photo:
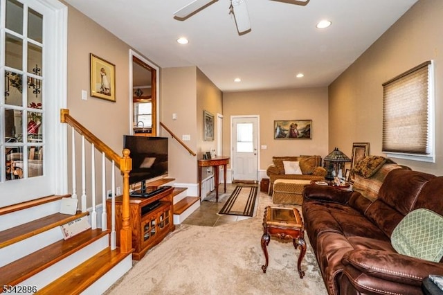
M116 102L116 66L90 54L91 96Z

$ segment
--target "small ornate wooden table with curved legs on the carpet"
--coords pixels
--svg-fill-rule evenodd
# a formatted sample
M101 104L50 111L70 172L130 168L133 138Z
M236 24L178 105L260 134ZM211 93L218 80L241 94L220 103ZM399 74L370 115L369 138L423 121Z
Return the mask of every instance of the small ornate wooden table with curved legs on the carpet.
M306 243L304 239L305 226L303 225L300 212L298 212L297 208L267 206L264 209L262 235L262 249L264 257L266 258L266 263L262 265L264 273L266 273L269 262L266 246L269 244L271 236L279 238L280 240L292 240L293 247L296 249L300 247L297 268L300 278L303 278L305 271L302 271L301 264L306 253Z

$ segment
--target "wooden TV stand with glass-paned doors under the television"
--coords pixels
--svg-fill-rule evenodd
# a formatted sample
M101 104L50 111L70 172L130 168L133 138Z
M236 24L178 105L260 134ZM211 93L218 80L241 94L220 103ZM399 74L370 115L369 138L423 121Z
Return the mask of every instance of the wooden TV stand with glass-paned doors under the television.
M132 258L141 260L146 252L159 244L168 233L174 231L174 212L172 206L172 192L174 188L168 188L148 198L130 197L129 211L131 215ZM147 206L159 201L160 206L145 212ZM122 227L122 202L123 197L116 197L116 238L120 245L120 229ZM106 202L107 222L111 224L111 199Z

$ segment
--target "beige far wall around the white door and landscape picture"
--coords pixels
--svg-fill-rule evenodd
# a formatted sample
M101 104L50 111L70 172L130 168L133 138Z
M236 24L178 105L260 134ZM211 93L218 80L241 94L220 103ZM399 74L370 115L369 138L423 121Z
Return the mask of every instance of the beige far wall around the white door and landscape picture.
M328 152L327 88L280 89L224 93L223 150L230 151L230 117L260 116L260 167L266 170L273 156L298 156ZM274 120L312 120L312 139L274 139Z

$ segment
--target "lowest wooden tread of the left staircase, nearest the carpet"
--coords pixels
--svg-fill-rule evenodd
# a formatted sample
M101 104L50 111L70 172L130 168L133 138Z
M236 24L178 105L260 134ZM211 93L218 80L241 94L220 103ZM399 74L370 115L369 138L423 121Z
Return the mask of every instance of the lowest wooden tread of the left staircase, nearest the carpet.
M120 248L111 251L108 247L35 294L66 294L66 290L70 294L80 294L128 255L131 253L121 253Z

